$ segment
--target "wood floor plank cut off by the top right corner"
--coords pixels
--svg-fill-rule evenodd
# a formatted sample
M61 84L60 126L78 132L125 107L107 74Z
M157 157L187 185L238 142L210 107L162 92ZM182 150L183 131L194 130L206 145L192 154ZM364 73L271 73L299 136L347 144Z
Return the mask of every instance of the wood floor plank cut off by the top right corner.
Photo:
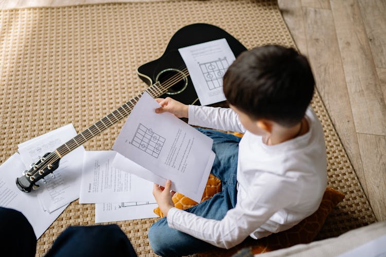
M386 68L386 0L359 0L359 8L375 66Z

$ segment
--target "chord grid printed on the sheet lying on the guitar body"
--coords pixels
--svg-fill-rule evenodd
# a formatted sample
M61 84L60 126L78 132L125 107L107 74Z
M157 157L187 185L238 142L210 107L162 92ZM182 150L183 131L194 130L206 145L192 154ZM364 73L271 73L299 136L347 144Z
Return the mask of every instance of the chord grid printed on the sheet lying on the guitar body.
M222 77L229 67L226 57L212 62L199 63L199 65L209 90L222 87Z

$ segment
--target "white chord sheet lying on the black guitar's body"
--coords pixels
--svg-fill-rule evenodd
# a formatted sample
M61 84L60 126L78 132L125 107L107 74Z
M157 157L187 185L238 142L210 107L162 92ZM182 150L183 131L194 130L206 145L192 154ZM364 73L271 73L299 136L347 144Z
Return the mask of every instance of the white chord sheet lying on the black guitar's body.
M225 100L222 77L235 60L225 39L178 49L202 105Z

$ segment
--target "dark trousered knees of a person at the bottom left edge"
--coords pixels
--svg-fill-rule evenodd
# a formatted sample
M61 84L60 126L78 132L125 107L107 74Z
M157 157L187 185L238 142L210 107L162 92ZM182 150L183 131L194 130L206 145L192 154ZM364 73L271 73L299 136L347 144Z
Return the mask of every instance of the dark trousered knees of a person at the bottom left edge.
M7 256L36 254L36 235L19 211L0 207L2 252ZM117 225L69 227L56 239L46 256L137 256L126 234Z

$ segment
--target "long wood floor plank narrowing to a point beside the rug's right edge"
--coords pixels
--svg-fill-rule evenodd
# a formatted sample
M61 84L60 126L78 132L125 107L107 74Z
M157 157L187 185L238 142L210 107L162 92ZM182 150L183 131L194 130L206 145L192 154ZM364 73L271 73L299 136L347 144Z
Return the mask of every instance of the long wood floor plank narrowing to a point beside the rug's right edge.
M332 12L314 8L303 8L303 12L308 56L317 88L366 193L365 176Z

